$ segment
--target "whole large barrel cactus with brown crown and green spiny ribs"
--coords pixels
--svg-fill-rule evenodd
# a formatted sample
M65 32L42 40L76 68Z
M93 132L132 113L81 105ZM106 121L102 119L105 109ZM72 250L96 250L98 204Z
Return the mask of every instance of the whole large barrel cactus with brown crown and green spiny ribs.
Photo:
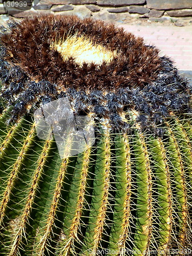
M0 43L1 255L189 255L191 87L172 60L76 16L11 21Z

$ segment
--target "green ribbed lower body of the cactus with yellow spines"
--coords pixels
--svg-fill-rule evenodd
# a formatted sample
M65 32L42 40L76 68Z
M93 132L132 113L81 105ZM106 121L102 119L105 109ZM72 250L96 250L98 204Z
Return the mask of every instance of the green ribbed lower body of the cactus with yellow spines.
M167 121L164 138L106 129L96 145L61 160L52 138L39 141L23 117L1 144L2 255L189 250L187 121Z

